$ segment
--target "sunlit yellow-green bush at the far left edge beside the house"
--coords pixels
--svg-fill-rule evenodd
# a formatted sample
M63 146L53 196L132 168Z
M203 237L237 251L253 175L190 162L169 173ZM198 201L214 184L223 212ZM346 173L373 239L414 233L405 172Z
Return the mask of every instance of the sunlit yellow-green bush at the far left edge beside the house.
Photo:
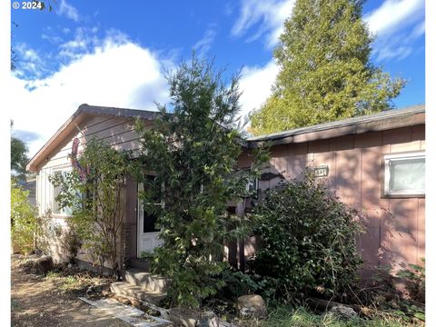
M12 242L23 253L30 253L35 247L38 228L35 205L27 199L28 191L12 181L11 184L11 236Z

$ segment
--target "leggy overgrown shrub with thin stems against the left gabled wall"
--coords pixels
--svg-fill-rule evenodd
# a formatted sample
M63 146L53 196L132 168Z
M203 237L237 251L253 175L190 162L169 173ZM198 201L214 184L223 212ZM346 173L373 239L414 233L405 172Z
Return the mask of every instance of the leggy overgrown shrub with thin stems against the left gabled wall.
M121 268L117 243L124 223L123 199L130 155L92 137L86 140L73 171L49 176L49 181L59 188L55 201L61 209L72 212L68 225L77 239L69 240L68 246L75 248L81 240L84 252L101 274L105 262L112 265L114 275Z

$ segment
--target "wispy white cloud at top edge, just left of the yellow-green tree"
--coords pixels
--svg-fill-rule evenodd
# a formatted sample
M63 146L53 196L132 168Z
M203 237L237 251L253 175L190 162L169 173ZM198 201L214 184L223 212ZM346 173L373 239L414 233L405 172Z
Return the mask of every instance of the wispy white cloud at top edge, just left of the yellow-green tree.
M248 37L251 42L262 36L269 48L277 45L283 31L283 23L292 14L295 0L243 0L240 15L233 25L232 35L242 36L254 25L258 25L255 34Z

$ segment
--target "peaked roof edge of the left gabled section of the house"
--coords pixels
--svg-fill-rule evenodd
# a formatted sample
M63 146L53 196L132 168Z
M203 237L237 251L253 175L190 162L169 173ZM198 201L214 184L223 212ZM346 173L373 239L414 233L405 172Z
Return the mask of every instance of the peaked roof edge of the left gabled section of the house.
M99 105L81 104L74 112L74 114L67 119L67 121L48 140L48 142L34 155L30 162L27 163L25 167L26 170L29 172L37 171L38 166L44 161L45 158L48 157L49 154L54 151L54 149L57 147L59 142L64 139L64 137L74 131L77 124L82 123L86 117L100 114L118 117L139 117L144 120L154 120L154 118L159 113L138 109L114 108Z

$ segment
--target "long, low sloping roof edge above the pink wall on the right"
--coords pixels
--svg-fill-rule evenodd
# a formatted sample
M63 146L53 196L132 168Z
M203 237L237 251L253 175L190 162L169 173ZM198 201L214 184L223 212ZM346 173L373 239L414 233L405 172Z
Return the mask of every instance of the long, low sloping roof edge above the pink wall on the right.
M247 139L247 142L249 148L256 147L263 142L271 142L272 145L301 143L346 134L362 134L416 124L425 124L425 104L250 137Z

